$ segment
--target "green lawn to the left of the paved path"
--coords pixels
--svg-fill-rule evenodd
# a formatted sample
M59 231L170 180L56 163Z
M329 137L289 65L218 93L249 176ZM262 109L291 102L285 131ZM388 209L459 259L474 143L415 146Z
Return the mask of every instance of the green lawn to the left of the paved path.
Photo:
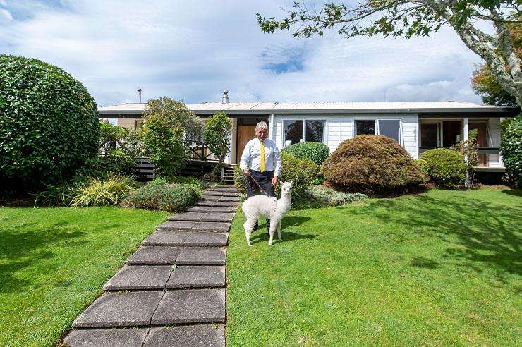
M0 207L0 346L51 346L166 214Z

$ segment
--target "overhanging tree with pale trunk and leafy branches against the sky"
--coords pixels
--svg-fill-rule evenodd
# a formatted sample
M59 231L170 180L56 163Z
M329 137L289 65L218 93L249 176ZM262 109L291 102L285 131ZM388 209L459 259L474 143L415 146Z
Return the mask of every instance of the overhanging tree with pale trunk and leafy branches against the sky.
M336 30L346 38L358 35L423 37L450 25L466 46L485 60L497 83L522 106L522 72L509 23L520 23L519 0L365 0L357 6L325 4L319 11L296 1L281 20L257 13L264 32L293 30L294 37L324 35ZM490 23L495 35L477 22Z

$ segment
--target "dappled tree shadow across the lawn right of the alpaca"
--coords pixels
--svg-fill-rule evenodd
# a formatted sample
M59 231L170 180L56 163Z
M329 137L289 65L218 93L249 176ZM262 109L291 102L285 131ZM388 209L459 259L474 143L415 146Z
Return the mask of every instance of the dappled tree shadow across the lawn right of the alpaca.
M493 269L522 274L521 205L499 206L465 196L443 200L418 195L413 203L408 198L371 201L364 207L350 209L350 214L402 225L421 236L435 235L448 243L447 257L476 272ZM456 236L456 241L448 236ZM427 269L439 267L424 257L414 258L411 264Z

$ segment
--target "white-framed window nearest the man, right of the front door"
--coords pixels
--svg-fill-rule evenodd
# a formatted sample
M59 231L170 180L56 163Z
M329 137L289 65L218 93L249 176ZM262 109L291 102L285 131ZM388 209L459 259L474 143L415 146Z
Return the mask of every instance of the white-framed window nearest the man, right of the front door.
M283 147L299 142L324 142L324 119L285 120L283 121Z

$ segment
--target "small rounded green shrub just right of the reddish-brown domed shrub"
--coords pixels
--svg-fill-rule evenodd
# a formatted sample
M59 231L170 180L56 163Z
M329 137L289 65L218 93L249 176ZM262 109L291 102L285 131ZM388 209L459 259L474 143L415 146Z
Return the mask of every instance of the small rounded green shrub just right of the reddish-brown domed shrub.
M443 188L461 185L466 178L466 162L460 152L448 148L434 148L420 154L427 163L432 181Z

